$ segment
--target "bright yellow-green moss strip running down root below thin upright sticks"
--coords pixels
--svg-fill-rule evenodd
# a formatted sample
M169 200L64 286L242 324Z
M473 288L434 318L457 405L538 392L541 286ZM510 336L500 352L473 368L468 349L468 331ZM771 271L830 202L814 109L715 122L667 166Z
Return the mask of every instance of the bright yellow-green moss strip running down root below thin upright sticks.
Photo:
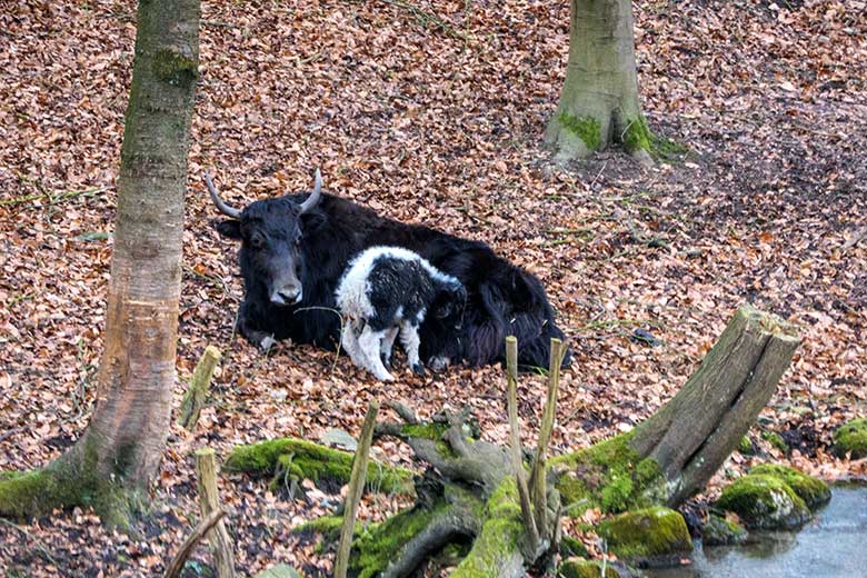
M472 542L472 549L451 572L452 578L491 576L490 569L518 551L524 536L518 487L512 477L506 478L494 490L486 505L487 519Z

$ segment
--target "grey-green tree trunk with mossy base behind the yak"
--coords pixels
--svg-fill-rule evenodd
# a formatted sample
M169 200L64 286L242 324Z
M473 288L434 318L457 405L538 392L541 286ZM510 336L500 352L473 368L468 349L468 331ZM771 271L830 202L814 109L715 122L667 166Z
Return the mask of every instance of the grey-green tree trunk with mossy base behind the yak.
M571 0L569 62L545 140L558 160L587 157L612 142L649 162L652 136L638 102L629 0Z

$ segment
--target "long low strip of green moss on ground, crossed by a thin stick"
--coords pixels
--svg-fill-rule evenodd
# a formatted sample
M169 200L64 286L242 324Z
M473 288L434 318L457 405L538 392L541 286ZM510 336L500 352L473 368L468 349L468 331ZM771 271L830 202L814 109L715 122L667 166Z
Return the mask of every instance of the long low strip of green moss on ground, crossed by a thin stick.
M281 456L291 456L291 459ZM297 478L343 485L352 472L352 454L302 439L282 438L236 446L225 467L253 476L271 476L282 467ZM367 467L366 487L373 491L408 494L412 489L412 472L371 461Z

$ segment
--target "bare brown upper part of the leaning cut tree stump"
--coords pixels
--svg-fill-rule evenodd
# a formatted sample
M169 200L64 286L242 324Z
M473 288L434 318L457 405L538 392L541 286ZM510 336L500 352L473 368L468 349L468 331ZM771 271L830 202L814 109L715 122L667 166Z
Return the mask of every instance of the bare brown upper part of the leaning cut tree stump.
M659 464L669 507L700 491L737 448L798 345L791 325L741 307L698 371L636 429L631 445L639 456Z

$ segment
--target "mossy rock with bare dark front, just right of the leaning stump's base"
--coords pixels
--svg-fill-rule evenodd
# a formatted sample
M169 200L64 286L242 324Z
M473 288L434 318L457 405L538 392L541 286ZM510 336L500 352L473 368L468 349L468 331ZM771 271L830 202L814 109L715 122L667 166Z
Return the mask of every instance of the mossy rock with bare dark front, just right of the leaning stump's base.
M810 518L795 491L775 476L750 474L722 490L717 507L737 514L747 528L795 529Z

